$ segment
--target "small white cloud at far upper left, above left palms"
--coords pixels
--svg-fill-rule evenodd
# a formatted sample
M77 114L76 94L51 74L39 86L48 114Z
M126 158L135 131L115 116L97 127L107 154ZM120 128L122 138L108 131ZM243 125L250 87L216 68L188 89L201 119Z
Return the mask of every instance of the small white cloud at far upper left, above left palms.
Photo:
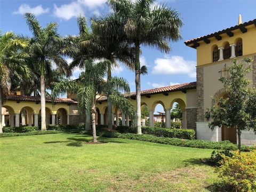
M49 8L43 9L42 5L35 7L30 7L28 4L22 4L19 6L18 11L14 11L13 14L25 14L25 13L34 13L36 16L44 13L48 13Z

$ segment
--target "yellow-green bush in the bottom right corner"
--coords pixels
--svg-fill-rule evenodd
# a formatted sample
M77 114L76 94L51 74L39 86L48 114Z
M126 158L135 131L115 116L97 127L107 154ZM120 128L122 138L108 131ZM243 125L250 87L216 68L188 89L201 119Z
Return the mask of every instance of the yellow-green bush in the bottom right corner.
M256 150L235 151L233 157L224 157L217 170L229 191L256 191Z

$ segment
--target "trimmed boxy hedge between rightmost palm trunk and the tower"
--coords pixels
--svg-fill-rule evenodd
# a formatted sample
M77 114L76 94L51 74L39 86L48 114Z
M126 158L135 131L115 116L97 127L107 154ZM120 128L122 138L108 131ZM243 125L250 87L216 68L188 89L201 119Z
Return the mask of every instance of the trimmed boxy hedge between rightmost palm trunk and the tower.
M189 129L168 129L155 127L142 127L142 133L152 134L157 137L179 138L179 139L196 139L194 130Z

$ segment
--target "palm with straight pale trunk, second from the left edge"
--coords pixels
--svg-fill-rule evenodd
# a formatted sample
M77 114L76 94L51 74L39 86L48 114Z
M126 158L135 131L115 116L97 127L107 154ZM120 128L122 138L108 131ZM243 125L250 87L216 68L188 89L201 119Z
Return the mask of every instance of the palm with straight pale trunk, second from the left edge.
M46 130L45 123L45 84L48 69L53 63L64 74L68 74L68 64L62 58L66 41L58 34L58 24L50 22L45 27L39 25L35 15L26 13L25 18L33 37L30 39L28 53L34 65L37 65L40 74L40 96L41 96L41 129Z

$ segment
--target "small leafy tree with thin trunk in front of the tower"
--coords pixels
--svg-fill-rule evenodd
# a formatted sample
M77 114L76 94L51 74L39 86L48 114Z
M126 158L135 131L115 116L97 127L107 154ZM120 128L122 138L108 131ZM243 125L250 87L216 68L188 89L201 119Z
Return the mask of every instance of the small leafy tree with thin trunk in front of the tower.
M241 150L241 131L256 132L256 101L255 90L249 87L250 81L245 76L252 70L250 58L244 58L228 69L227 77L221 77L227 97L213 98L214 105L210 108L212 122L210 129L215 126L235 128L238 135L238 148Z

